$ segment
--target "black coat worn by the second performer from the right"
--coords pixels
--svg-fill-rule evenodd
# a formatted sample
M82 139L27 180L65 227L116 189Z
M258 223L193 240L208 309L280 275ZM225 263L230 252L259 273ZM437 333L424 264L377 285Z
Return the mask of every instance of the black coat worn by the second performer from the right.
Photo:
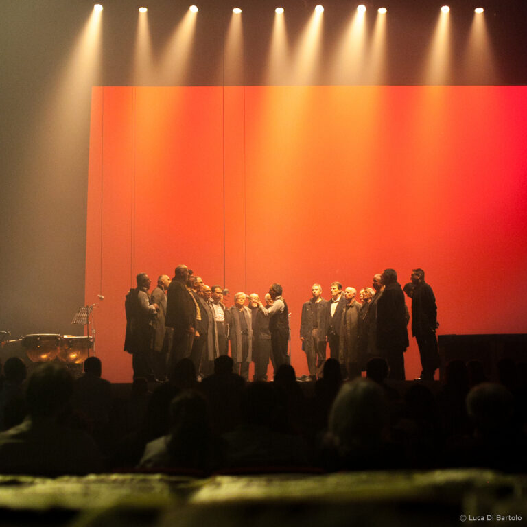
M398 282L386 285L377 301L377 347L408 348L404 293Z

